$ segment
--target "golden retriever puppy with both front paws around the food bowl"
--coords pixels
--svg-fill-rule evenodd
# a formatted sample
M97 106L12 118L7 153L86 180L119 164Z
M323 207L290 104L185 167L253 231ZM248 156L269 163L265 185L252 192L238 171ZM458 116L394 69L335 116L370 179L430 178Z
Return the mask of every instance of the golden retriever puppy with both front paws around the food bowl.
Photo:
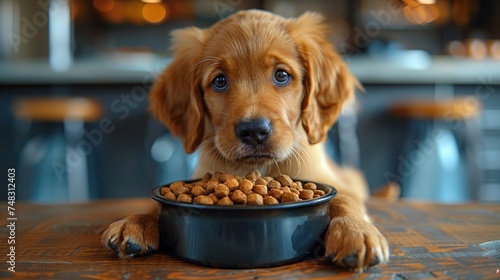
M325 154L327 131L359 86L327 30L318 14L286 19L251 10L174 31L174 59L150 105L188 153L199 150L195 178L256 170L335 186L325 257L363 271L387 262L389 248L367 215L362 175ZM157 250L157 210L111 224L102 240L122 258Z

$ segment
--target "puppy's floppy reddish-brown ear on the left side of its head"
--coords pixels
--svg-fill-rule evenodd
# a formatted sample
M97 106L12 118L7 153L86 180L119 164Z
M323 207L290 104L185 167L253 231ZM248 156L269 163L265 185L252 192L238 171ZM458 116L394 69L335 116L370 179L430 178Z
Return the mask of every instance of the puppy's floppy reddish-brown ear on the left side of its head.
M204 37L204 31L194 27L172 32L174 59L149 95L152 114L181 139L187 153L203 140L205 111L195 66Z

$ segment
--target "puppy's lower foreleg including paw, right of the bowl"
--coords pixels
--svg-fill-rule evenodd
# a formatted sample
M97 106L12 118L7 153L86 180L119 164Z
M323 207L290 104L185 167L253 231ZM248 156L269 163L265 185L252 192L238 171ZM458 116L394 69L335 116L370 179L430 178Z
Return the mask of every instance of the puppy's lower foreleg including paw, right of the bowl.
M370 223L362 200L339 193L330 203L330 217L325 256L333 263L362 272L389 260L387 241Z

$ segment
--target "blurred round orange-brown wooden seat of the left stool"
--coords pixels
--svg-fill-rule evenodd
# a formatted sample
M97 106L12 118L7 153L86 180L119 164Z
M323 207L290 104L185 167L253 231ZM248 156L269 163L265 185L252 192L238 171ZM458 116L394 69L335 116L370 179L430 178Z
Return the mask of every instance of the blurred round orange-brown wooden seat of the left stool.
M81 97L35 97L18 99L14 115L29 121L63 122L64 120L95 121L102 116L101 103Z

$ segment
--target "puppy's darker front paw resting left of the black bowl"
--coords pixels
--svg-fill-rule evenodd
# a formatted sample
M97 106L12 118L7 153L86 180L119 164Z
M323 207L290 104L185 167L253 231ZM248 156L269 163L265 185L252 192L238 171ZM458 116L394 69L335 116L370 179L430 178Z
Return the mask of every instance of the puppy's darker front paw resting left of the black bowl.
M158 250L158 218L151 214L133 215L109 225L102 244L126 259Z

